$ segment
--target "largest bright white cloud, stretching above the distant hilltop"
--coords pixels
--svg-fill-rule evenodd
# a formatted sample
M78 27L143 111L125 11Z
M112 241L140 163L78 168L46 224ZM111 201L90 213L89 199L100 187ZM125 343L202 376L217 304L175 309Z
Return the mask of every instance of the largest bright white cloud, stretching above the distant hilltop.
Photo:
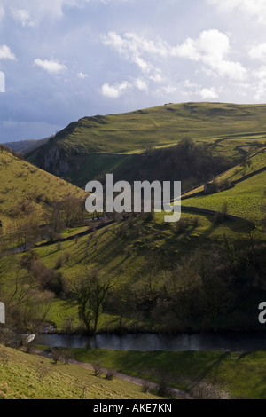
M118 51L124 59L135 63L153 80L155 75L160 74L160 69L154 66L152 59L158 62L170 57L201 62L205 71L211 69L212 75L238 80L246 78L246 69L239 62L228 58L231 54L228 35L217 29L204 30L197 39L187 38L184 43L176 46L160 38L151 40L132 33L121 36L116 32L103 36L103 43Z

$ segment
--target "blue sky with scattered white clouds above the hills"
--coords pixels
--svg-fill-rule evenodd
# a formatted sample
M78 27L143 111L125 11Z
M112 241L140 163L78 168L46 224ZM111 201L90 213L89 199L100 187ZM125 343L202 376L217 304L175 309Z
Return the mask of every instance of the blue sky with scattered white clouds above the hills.
M0 143L188 101L266 102L265 0L0 0Z

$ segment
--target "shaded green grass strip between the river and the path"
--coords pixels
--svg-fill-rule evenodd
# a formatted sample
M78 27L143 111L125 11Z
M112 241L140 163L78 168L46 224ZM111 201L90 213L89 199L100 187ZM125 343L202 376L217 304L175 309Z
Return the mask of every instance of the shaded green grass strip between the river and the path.
M72 350L74 358L84 362L99 360L103 366L151 379L167 374L176 388L192 389L212 386L231 398L262 399L266 397L266 352L137 352L112 350ZM198 390L199 393L200 389ZM203 394L206 397L207 392Z

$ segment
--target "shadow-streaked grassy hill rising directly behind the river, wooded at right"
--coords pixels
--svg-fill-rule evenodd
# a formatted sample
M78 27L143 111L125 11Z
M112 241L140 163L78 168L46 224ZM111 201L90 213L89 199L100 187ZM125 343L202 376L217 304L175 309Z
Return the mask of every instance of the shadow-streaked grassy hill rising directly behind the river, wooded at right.
M38 261L62 281L47 314L57 331L85 331L74 287L93 270L113 281L100 332L262 330L257 306L266 295L265 234L241 220L217 223L214 216L183 213L177 224L165 224L162 216L129 218L79 240L35 248Z

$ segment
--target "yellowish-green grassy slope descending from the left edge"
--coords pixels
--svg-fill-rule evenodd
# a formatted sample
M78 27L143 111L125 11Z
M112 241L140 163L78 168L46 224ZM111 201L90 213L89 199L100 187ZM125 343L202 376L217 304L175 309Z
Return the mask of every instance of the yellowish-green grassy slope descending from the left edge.
M12 228L14 218L20 220L14 212L16 208L21 208L23 201L26 212L30 209L35 220L42 223L48 204L52 201L59 201L71 194L85 196L78 187L5 151L0 151L0 178L0 219L4 232Z

